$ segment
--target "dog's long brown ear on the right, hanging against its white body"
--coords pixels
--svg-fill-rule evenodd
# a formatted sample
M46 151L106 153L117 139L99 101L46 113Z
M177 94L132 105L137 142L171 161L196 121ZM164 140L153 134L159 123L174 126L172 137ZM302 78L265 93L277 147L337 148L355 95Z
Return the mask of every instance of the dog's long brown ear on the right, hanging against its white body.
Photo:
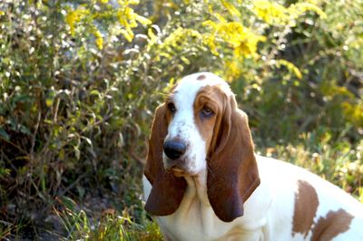
M233 96L226 98L217 121L208 161L208 198L217 217L231 222L243 215L243 204L260 185L260 177L248 118Z

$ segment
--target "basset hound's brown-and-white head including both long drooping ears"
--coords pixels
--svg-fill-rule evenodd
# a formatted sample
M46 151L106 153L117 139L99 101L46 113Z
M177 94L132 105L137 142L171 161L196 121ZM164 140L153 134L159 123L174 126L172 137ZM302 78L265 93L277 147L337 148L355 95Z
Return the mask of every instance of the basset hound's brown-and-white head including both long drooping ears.
M260 184L247 115L227 82L210 72L186 76L155 111L145 176L152 183L146 209L172 214L187 184L207 173L211 207L229 222Z

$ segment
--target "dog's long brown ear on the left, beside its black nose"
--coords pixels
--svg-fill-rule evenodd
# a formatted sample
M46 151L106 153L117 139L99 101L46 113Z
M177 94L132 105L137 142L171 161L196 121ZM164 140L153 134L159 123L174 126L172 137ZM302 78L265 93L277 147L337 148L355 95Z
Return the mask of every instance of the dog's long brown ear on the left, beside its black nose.
M166 106L162 104L155 111L149 152L144 174L152 184L152 191L146 201L145 210L156 216L171 215L178 209L187 183L184 178L176 178L164 169L162 144L168 133Z

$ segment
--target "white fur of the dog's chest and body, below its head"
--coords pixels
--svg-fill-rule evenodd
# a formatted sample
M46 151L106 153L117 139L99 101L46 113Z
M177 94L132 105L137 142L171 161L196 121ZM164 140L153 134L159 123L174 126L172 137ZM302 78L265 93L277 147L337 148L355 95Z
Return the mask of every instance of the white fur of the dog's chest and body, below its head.
M298 180L309 181L319 195L314 221L339 208L354 216L349 230L333 240L363 240L363 207L356 199L305 169L277 159L260 156L256 159L261 183L244 204L244 216L231 223L222 222L209 204L205 178L190 177L176 212L156 217L166 240L309 240L311 232L305 239L301 234L292 234ZM143 185L147 199L152 186L146 178Z

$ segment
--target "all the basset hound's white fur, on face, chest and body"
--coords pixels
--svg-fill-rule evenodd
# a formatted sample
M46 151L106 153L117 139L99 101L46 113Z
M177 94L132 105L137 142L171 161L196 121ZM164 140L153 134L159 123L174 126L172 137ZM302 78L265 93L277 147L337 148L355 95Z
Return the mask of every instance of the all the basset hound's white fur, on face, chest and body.
M201 74L208 80L196 81ZM186 178L188 188L180 207L172 215L156 217L165 240L309 240L311 231L305 239L301 234L292 232L295 193L299 180L308 181L318 194L319 207L315 223L319 217L325 217L329 211L337 211L339 208L354 216L348 231L333 240L363 240L361 203L305 169L260 156L256 156L260 186L244 203L244 215L231 223L222 222L214 214L207 196L205 143L193 120L193 101L201 87L207 84L222 84L225 91L232 94L228 84L207 72L185 77L175 90L173 101L177 111L170 123L167 138L178 137L188 142L188 167L198 175ZM145 177L143 187L146 200L152 186Z

